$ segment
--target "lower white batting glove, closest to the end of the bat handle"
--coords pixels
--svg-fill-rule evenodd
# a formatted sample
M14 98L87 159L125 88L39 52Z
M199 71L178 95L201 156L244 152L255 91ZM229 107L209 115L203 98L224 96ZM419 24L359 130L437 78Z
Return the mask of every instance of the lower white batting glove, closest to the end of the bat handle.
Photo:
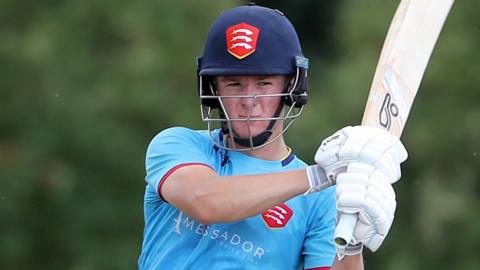
M351 163L345 173L338 175L336 185L338 213L358 214L353 239L345 254L360 253L361 246L360 249L352 248L359 247L360 243L375 252L387 236L395 216L395 192L390 180L371 165Z

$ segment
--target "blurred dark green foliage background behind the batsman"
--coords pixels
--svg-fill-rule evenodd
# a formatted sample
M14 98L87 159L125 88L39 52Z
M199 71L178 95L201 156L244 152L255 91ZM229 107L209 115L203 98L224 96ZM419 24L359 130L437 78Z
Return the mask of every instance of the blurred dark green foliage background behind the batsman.
M399 1L257 1L283 10L311 60L287 133L312 162L361 120ZM242 1L0 2L0 269L135 269L144 152L160 130L204 128L195 57ZM415 100L398 210L366 269L479 269L480 2L458 0Z

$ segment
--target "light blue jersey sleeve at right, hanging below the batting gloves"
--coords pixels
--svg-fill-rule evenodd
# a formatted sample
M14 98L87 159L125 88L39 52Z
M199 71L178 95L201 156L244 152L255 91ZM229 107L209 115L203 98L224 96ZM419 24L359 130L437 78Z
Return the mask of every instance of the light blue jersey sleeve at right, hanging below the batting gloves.
M302 255L304 268L315 269L318 267L331 267L335 259L335 244L333 234L335 231L335 187L312 194L319 196L309 217L309 230L303 243ZM312 196L309 195L309 196Z

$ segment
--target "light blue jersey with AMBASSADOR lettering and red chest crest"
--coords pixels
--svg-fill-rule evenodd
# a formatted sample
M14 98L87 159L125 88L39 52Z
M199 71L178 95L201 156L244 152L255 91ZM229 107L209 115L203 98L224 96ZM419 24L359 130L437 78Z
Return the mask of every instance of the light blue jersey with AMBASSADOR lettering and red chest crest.
M214 138L220 137L216 131ZM242 221L207 226L165 202L158 193L170 173L192 163L211 167L222 176L306 166L293 154L282 161L267 161L220 149L206 131L162 131L150 143L146 156L140 269L308 269L333 264L334 188L297 196Z

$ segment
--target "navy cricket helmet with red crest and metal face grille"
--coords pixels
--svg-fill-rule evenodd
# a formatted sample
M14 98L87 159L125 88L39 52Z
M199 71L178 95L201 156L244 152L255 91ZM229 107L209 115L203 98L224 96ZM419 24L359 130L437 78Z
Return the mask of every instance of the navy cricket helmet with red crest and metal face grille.
M308 59L302 55L293 26L277 10L249 5L222 13L210 29L197 68L202 120L207 122L212 141L221 148L253 150L268 145L282 136L307 102ZM280 94L220 96L215 77L229 75L285 75L291 80ZM251 98L253 103L262 98L278 98L281 102L271 117L251 118L249 114L246 118L232 118L224 104L231 98ZM283 126L271 138L277 120ZM252 134L250 123L255 121L269 121L269 125L264 132ZM234 122L248 122L247 137L236 135ZM231 136L235 144L220 145L212 135L217 128Z

